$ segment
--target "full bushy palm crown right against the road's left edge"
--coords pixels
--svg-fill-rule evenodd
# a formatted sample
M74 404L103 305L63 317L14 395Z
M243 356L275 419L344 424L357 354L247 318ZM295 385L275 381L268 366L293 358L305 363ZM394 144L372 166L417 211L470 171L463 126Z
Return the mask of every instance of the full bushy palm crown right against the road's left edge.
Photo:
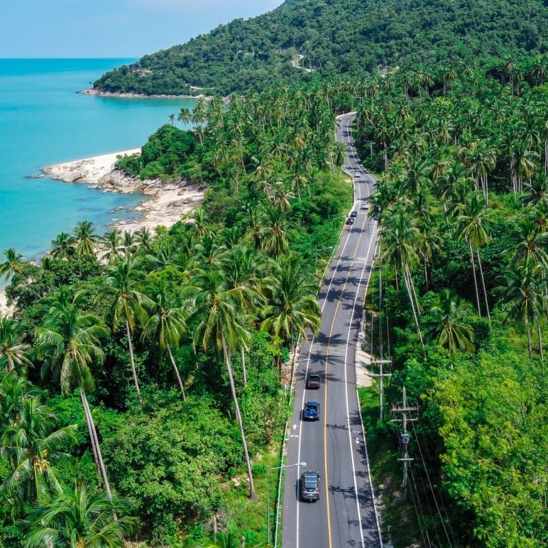
M261 329L290 343L294 335L306 338L306 329L317 333L321 310L316 300L316 286L310 280L310 265L290 253L266 280L266 306Z

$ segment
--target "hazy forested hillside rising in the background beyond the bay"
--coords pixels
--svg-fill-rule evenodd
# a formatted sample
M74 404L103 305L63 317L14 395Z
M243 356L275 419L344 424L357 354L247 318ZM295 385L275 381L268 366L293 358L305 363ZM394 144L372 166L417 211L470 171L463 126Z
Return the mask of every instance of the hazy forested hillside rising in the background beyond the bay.
M273 12L145 55L103 75L94 87L228 95L279 79L545 51L546 36L548 8L540 0L287 0Z

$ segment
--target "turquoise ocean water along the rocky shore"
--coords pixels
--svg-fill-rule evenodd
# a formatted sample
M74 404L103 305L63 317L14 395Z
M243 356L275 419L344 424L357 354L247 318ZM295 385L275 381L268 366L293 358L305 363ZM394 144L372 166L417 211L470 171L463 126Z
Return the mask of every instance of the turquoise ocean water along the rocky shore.
M89 220L134 219L141 195L84 183L26 179L41 166L140 147L192 99L116 99L75 93L129 59L0 59L0 251L38 258L62 231ZM180 127L180 124L179 124ZM110 214L123 206L122 212Z

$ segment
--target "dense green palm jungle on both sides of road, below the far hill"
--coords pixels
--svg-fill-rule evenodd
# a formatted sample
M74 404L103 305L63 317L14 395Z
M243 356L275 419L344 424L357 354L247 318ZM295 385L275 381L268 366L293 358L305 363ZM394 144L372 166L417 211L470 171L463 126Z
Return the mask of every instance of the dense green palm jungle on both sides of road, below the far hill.
M0 545L265 545L288 364L351 206L334 140L351 110L379 178L383 420L377 386L361 396L384 536L547 545L547 78L546 55L512 54L200 99L117 164L207 186L188 218L103 236L83 220L40 264L5 250Z

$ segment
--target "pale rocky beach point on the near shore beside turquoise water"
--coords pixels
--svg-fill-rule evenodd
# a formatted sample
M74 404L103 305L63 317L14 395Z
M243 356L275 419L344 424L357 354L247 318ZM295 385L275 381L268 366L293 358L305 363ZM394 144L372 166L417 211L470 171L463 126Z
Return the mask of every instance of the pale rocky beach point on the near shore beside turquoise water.
M185 181L164 182L160 179L141 181L114 168L119 155L139 154L140 149L132 149L92 158L54 164L43 169L53 179L92 183L90 188L102 192L140 192L151 199L142 201L135 210L142 212L138 221L119 222L124 230L135 232L141 227L153 228L159 225L171 227L190 210L203 201L205 186L196 186Z

